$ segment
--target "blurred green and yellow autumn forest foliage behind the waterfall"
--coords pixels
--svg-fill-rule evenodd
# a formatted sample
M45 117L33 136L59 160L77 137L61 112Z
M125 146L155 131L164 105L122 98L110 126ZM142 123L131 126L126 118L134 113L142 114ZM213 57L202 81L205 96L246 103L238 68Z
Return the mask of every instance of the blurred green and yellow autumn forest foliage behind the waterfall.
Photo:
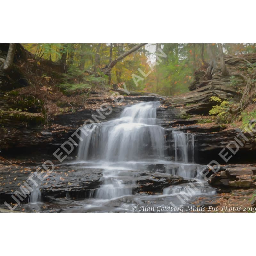
M102 76L102 68L110 62L110 44L23 44L24 47L34 53L37 59L47 59L65 65L66 77L63 78L60 87L68 93L74 91L86 91L97 86L105 88L107 85L125 83L128 90L156 92L162 95L176 95L188 92L190 81L196 70L202 67L201 58L202 44L157 44L165 57L156 58L153 53L156 44L142 47L136 52L117 62L112 68L110 84L108 78ZM135 44L112 44L112 57L131 49ZM212 51L218 54L216 44L211 45ZM255 44L223 44L225 54L244 54L256 52ZM204 47L204 59L209 61L209 56ZM39 60L40 61L40 60ZM248 72L255 72L255 68L248 63L242 67ZM241 67L241 68L242 68ZM149 74L144 77L142 73ZM85 70L91 72L86 73ZM250 71L251 70L251 71ZM94 73L94 78L89 74ZM138 86L132 79L132 74L142 79ZM256 75L256 73L255 73ZM86 76L88 76L86 78ZM45 76L47 79L48 76ZM252 77L252 76L251 76ZM256 76L252 77L252 82ZM242 83L239 77L232 77L231 84L234 86Z

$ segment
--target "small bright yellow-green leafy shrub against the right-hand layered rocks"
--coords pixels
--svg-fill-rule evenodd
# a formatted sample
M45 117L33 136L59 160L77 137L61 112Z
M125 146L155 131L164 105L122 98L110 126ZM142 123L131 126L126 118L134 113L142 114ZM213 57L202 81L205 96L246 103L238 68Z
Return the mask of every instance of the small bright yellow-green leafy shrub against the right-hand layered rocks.
M220 105L215 105L209 111L210 115L217 115L220 117L221 121L228 122L228 115L230 114L230 102L227 100L221 100L219 97L212 96L210 97L210 101L221 102Z

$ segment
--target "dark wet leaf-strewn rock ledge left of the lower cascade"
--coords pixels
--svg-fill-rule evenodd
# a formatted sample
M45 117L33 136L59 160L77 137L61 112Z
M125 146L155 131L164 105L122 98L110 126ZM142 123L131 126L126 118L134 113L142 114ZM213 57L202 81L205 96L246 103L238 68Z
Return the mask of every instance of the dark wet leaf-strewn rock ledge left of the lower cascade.
M24 195L24 202L28 202L29 195L21 191L20 186L36 171L38 167L4 167L0 169L0 203L15 203L11 197L19 191ZM72 169L72 166L60 166L49 176L44 178L40 184L41 200L49 201L51 197L74 197L87 198L95 193L100 186L103 169L81 168ZM40 169L40 168L39 168ZM41 172L41 170L40 170ZM44 177L46 172L41 175ZM34 177L34 178L33 178ZM35 180L35 176L32 176ZM40 183L39 180L36 181ZM31 181L27 182L33 188Z

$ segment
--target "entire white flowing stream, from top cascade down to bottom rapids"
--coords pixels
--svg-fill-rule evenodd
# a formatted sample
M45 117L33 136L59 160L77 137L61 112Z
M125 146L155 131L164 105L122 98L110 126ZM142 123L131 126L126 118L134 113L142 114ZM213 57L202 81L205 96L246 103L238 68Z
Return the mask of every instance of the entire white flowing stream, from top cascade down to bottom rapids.
M77 159L65 165L102 170L100 185L85 199L72 199L67 192L55 203L66 212L159 212L168 206L193 206L197 196L214 195L206 182L194 179L203 166L194 163L193 134L172 131L172 156L166 156L166 130L156 118L159 105L134 104L125 107L119 118L84 127ZM184 181L168 183L173 177ZM37 199L38 189L31 202Z

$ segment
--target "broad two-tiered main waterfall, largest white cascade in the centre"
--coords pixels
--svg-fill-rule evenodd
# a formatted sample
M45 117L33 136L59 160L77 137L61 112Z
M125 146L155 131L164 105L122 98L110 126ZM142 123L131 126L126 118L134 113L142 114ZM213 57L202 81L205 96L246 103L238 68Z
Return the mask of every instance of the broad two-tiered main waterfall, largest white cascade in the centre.
M124 108L120 118L88 124L81 132L79 160L131 161L164 157L164 129L156 125L157 102Z

